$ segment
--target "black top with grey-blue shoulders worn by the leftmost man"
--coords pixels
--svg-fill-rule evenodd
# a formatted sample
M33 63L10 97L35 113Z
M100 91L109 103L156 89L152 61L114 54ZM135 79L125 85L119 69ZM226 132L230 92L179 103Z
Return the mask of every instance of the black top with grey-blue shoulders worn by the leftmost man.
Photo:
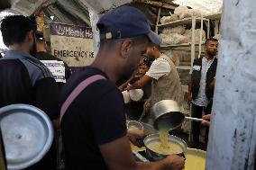
M40 108L50 120L59 118L57 84L40 60L9 50L0 59L0 107L26 103Z

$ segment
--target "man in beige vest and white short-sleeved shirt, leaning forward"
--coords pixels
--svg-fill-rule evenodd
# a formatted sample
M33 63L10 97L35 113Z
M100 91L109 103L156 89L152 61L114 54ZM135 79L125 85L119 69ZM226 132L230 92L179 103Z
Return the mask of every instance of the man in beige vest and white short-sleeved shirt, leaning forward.
M127 90L142 88L143 85L152 81L151 98L144 104L146 111L161 100L174 100L181 106L183 92L178 71L172 59L161 54L158 46L149 47L146 57L153 60L149 71L133 85L129 85Z

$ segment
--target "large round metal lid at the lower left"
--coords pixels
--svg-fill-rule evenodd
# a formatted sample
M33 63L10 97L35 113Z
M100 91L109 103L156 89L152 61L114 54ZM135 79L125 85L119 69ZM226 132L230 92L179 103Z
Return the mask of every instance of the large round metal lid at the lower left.
M0 125L8 169L23 169L41 160L50 149L53 128L48 116L27 104L0 109Z

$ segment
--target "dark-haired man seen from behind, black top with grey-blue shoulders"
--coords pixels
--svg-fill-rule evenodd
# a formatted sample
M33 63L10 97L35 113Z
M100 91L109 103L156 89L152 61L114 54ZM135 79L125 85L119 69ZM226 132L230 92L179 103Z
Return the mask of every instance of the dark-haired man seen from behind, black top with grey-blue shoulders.
M23 15L5 17L1 23L5 45L10 49L0 59L0 107L14 103L26 103L40 108L53 122L59 125L57 84L36 52L36 26ZM29 169L53 170L56 168L55 147Z

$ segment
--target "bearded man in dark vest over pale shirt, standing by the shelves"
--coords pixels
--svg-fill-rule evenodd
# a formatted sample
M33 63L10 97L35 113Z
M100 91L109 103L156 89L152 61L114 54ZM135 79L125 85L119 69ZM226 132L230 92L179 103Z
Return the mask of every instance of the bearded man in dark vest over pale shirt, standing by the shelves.
M194 60L191 81L188 85L187 102L192 101L191 116L202 118L202 112L211 113L215 90L218 40L208 39L205 43L206 56ZM200 122L192 122L193 144L197 147L200 135ZM206 134L207 136L207 134ZM207 137L206 137L207 141Z

